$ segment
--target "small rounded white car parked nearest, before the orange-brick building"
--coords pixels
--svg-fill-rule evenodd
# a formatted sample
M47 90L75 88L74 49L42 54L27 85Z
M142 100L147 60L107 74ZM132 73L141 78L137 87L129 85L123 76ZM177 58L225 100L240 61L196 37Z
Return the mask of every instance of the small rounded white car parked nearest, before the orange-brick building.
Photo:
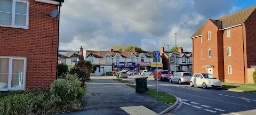
M221 88L222 83L210 73L195 73L195 75L190 79L190 86L203 87L204 89Z

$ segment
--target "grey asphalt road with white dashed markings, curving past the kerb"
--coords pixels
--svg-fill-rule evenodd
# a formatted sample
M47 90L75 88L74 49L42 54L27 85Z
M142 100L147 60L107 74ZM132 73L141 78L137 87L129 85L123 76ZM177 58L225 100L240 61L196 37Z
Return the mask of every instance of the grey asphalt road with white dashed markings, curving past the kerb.
M124 80L135 83L137 77L140 76L129 76ZM153 76L145 77L149 77L148 87L156 89ZM170 111L172 114L256 114L256 94L203 89L167 81L158 81L158 90L179 97L180 104Z

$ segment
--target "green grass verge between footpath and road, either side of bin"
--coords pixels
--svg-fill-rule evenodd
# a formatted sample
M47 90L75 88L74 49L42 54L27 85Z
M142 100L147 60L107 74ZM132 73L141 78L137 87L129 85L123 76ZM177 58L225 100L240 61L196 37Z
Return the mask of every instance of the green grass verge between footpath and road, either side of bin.
M122 80L122 79L114 79L114 80L117 80L121 83L124 83L127 86L136 88L136 86L133 83L129 82L129 81ZM166 104L169 104L169 105L173 105L176 102L176 98L172 94L165 93L165 92L162 92L162 91L158 91L158 93L156 93L156 90L152 89L152 88L148 88L148 91L146 91L145 93L147 95L149 95L151 97L154 97L157 100L159 100L161 102L164 102Z

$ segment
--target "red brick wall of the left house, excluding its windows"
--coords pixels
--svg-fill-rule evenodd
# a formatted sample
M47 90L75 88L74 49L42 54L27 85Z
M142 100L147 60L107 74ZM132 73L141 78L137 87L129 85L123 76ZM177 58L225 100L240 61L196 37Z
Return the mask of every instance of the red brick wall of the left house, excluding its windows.
M54 9L30 0L28 29L0 27L0 56L27 57L26 88L49 88L55 79L58 17L53 24L48 15Z

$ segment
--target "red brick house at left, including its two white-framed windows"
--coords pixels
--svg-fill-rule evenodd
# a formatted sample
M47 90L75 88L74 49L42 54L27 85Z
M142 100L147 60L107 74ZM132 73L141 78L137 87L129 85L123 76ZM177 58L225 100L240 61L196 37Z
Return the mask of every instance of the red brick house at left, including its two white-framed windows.
M62 1L63 2L63 1ZM49 88L55 80L60 1L0 1L0 91Z

